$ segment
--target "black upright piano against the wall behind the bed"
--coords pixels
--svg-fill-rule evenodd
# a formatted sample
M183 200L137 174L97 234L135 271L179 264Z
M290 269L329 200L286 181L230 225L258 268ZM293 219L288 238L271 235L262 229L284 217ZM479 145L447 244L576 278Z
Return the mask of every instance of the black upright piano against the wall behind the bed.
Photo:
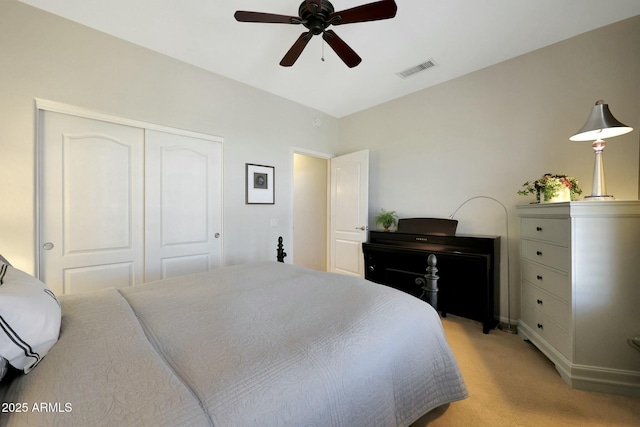
M487 334L498 324L500 236L456 235L457 221L406 218L397 231L370 231L363 243L365 278L419 297L416 283L437 258L438 310L482 322Z

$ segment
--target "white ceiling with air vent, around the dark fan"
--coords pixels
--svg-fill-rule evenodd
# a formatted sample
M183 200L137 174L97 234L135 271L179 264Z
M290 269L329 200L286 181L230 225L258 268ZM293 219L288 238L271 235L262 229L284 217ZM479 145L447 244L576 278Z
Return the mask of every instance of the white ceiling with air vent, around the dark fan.
M302 0L20 0L340 118L640 14L638 0L396 0L395 18L330 27L347 68L314 37L279 65L301 25L241 23L236 10L297 15ZM373 0L333 0L336 11ZM639 47L640 49L640 47ZM437 66L396 73L432 59Z

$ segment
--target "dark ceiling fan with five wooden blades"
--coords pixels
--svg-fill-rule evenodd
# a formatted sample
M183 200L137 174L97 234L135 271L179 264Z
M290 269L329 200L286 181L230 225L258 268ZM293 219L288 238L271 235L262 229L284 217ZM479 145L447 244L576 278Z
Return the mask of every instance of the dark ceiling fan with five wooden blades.
M398 7L393 0L382 0L363 4L351 9L336 12L328 0L304 0L298 9L298 16L276 15L272 13L247 12L239 10L234 14L240 22L264 22L270 24L302 24L309 29L298 37L291 49L280 61L283 67L291 67L313 36L322 34L322 38L336 52L349 68L358 65L362 58L354 52L329 25L352 24L355 22L378 21L396 16Z

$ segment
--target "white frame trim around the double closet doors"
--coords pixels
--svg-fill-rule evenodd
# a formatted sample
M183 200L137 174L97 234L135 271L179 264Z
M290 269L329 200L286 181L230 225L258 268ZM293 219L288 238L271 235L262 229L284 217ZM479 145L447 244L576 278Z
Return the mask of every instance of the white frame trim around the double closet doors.
M42 244L42 239L41 239L41 232L42 232L42 224L41 224L41 215L40 215L40 201L42 198L42 193L41 193L41 183L42 183L42 173L41 173L41 168L43 165L43 159L42 159L42 153L43 153L43 147L42 144L44 143L44 139L43 139L43 133L42 133L42 113L44 113L45 111L50 111L50 112L54 112L54 113L61 113L61 114L67 114L67 115L71 115L71 116L76 116L76 117L81 117L81 118L85 118L85 119L93 119L93 120L101 120L104 122L109 122L109 123L114 123L114 124L120 124L120 125L125 125L125 126L131 126L131 127L137 127L137 128L142 128L144 130L156 130L156 131L160 131L160 132L165 132L165 133L172 133L172 134L176 134L176 135L184 135L184 136L190 136L193 138L198 138L198 139L204 139L207 141L212 141L212 142L217 142L220 143L220 147L222 149L222 162L221 162L221 170L220 170L220 176L222 179L221 182L221 212L222 212L222 218L221 218L221 226L222 226L222 230L224 231L224 138L219 137L219 136L213 136L213 135L207 135L204 133L199 133L199 132L193 132L193 131L189 131L189 130L184 130L184 129L177 129L177 128L172 128L169 126L163 126L163 125L158 125L155 123L148 123L148 122L144 122L141 120L134 120L134 119L128 119L128 118L124 118L121 116L116 116L113 114L109 114L109 113L104 113L101 111L96 111L96 110L91 110L88 108L84 108L84 107L79 107L76 105L70 105L70 104L65 104L62 102L57 102L57 101L51 101L48 99L42 99L42 98L34 98L34 107L35 107L35 201L34 201L34 221L35 221L35 235L34 235L34 240L35 240L35 245L34 245L34 249L35 249L35 276L36 277L40 277L40 245ZM293 159L293 156L292 156ZM223 233L223 239L224 239L224 233ZM225 259L224 259L224 240L222 240L220 242L221 244L221 259L222 259L222 265L225 265Z

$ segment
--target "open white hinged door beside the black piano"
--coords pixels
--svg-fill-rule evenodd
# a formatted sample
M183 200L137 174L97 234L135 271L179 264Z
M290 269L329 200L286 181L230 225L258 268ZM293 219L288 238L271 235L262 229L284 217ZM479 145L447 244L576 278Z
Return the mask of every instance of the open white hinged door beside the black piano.
M369 224L369 151L331 159L331 271L364 277Z

